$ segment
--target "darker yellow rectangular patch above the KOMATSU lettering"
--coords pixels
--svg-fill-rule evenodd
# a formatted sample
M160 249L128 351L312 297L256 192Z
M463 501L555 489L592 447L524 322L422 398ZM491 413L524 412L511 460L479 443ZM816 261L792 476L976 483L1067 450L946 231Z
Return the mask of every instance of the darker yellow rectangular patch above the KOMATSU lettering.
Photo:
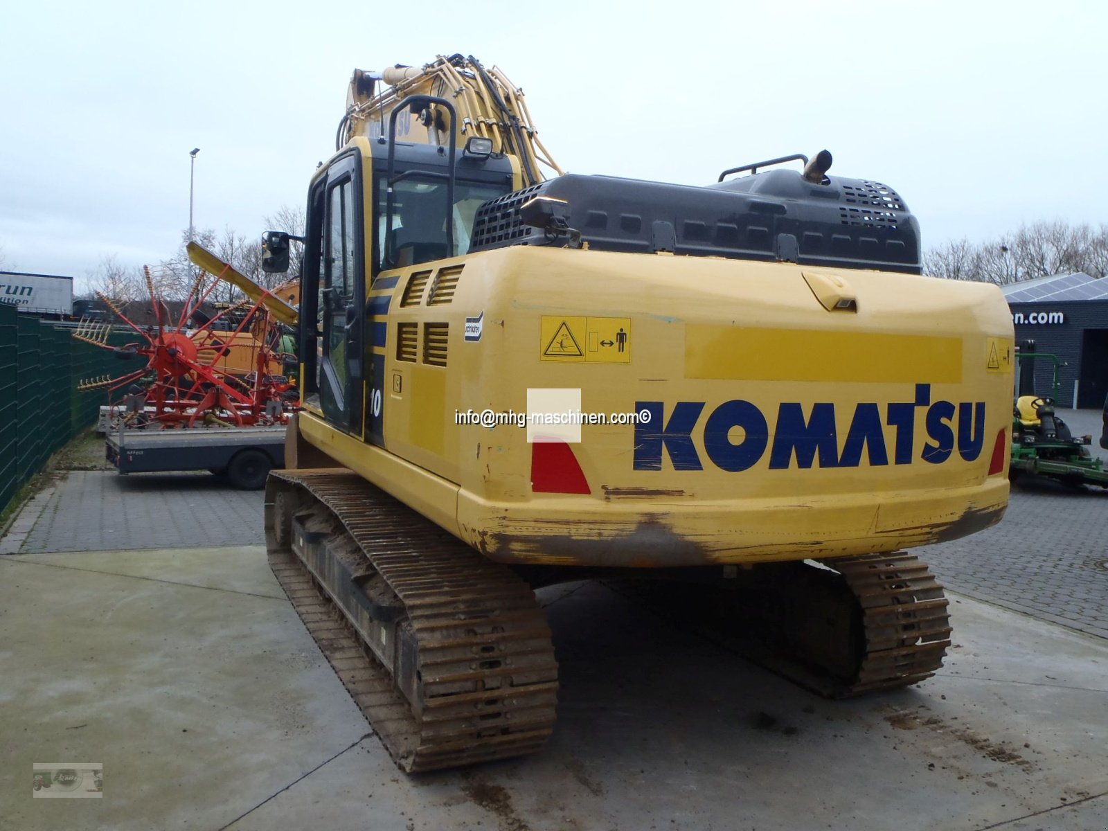
M689 325L685 329L685 377L961 383L962 339Z

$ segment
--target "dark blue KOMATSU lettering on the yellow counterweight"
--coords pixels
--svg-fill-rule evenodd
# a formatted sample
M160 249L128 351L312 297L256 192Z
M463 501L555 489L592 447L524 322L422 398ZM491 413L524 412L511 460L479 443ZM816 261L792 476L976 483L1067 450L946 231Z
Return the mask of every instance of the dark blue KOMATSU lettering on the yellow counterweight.
M674 470L702 470L693 441L704 401L678 401L667 414L661 401L638 401L650 420L635 425L635 470L661 470L663 448ZM924 411L922 435L916 435L916 410ZM856 468L864 455L870 466L942 464L957 450L972 462L981 455L985 438L984 401L934 401L931 384L915 386L915 400L854 406L849 421L834 403L778 406L772 432L766 414L743 400L725 401L704 422L704 452L717 468L749 470L769 453L770 470L797 468ZM885 427L891 430L885 432ZM847 438L840 450L839 435Z

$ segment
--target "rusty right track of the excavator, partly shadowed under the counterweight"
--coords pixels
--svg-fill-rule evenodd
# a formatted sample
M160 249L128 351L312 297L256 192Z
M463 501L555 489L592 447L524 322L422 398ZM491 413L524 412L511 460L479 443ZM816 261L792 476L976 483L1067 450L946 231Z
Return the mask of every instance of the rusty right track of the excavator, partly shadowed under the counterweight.
M756 566L712 584L627 579L616 592L825 698L917 684L951 645L943 586L905 552ZM745 577L745 578L743 578Z

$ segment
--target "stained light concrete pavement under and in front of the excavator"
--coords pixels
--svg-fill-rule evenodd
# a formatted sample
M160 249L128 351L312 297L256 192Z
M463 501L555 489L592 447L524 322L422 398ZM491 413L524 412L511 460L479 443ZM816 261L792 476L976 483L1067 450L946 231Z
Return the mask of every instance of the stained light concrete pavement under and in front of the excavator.
M546 752L406 777L258 546L14 555L0 586L6 827L1108 827L1108 644L968 598L940 677L832 702L603 585L546 589ZM31 799L33 762L76 757L103 799Z

